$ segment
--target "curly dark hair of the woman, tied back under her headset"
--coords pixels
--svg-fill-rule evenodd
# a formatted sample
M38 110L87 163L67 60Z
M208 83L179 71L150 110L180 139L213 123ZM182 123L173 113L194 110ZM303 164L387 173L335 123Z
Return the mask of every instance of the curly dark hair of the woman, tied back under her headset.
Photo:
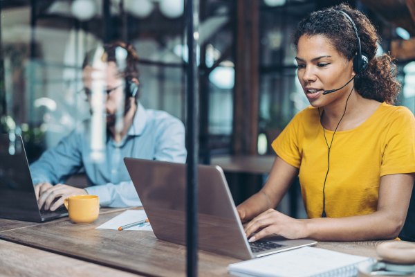
M379 37L376 28L362 12L347 4L340 4L324 10L312 12L311 15L299 22L294 33L295 47L302 35L323 35L348 60L352 60L358 52L356 33L347 17L339 10L346 12L356 24L362 53L369 59L365 71L356 75L355 87L358 93L368 99L393 104L400 91L400 83L396 80L398 73L394 59L383 54L376 56Z

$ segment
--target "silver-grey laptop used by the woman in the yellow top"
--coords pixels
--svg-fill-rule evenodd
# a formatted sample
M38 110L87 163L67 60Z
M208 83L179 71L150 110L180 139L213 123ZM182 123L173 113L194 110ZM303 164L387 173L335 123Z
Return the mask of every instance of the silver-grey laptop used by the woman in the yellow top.
M186 165L133 158L124 163L156 237L185 245ZM247 260L317 243L281 237L249 243L223 170L198 168L199 249Z

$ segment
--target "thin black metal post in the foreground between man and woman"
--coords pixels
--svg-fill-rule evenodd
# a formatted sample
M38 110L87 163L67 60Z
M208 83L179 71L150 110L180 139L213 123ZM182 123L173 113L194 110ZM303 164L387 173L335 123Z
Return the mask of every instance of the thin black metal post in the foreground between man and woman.
M187 83L187 213L186 246L187 276L197 276L197 236L198 236L198 172L199 160L199 91L196 48L199 41L199 1L185 2L185 25L187 29L188 62L186 67Z

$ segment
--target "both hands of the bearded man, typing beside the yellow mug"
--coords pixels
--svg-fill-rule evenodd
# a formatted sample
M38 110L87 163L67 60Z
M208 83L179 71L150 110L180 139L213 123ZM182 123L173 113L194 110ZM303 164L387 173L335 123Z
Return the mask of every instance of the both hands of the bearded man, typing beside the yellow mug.
M83 188L75 188L64 184L52 186L49 183L37 184L35 194L39 208L44 206L45 210L55 211L59 206L64 204L64 199L72 195L87 195ZM57 199L55 201L55 199ZM53 202L55 201L55 202Z

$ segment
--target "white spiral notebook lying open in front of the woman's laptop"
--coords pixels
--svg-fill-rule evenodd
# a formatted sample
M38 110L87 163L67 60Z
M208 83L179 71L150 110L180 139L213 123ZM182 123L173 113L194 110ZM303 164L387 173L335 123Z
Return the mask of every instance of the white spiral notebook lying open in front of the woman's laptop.
M302 247L263 258L230 264L228 271L234 276L310 277L356 276L360 262L374 258L350 255L336 251Z

